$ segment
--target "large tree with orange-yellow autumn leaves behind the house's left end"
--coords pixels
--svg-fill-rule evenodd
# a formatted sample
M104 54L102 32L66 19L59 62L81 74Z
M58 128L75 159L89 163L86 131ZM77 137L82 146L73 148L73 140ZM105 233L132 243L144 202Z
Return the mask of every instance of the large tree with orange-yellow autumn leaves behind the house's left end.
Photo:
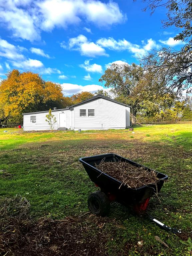
M0 82L0 118L21 121L23 112L64 107L59 84L47 82L39 74L13 70Z

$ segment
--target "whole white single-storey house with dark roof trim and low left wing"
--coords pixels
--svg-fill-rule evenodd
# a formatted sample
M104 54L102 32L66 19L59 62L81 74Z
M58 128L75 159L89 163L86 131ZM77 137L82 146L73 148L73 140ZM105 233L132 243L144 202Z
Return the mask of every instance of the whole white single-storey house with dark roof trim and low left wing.
M50 130L45 121L49 111L23 113L24 131ZM130 126L130 106L96 95L65 109L54 109L54 130L125 129Z

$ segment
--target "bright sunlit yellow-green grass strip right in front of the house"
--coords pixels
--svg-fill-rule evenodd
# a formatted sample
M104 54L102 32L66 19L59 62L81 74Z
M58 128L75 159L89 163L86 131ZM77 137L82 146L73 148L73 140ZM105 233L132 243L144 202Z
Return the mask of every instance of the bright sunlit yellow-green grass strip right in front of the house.
M4 132L4 131L7 132ZM135 126L134 139L142 141L172 141L185 145L192 143L192 124L166 124L151 126ZM125 140L132 132L128 130L91 130L91 131L53 131L53 132L24 132L21 129L0 129L0 150L12 149L23 144L53 141L53 140L83 140L104 139ZM132 137L131 137L132 138ZM187 141L187 142L186 142Z

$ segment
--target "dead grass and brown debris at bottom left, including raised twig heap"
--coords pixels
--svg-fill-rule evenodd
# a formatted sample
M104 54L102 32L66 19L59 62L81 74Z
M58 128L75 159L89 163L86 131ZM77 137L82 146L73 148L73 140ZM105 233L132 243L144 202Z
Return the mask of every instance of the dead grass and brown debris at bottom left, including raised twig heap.
M1 202L0 256L107 256L99 218L32 221L29 207L20 195Z

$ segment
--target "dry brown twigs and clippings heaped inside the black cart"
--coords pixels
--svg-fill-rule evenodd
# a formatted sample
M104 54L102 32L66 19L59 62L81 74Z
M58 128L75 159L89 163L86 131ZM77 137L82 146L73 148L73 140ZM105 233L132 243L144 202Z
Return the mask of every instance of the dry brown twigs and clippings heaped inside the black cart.
M126 185L128 188L139 188L149 184L155 184L157 188L159 182L154 170L138 167L128 162L104 162L103 159L100 164L96 165L96 168L119 180L121 186Z

